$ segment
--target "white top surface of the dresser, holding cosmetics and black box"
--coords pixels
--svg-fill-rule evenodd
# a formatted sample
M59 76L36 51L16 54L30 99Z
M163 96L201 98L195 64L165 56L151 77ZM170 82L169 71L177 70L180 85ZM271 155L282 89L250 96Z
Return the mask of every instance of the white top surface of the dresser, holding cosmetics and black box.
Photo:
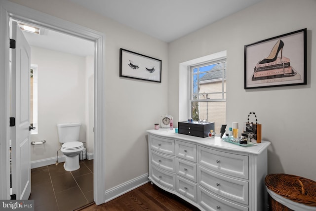
M263 150L265 150L271 143L269 141L261 141L261 143L257 143L251 146L239 146L237 144L229 143L227 141L222 140L220 137L216 136L214 138L200 138L191 135L184 135L175 132L175 129L170 130L169 128L159 128L158 130L150 129L147 130L148 133L153 135L162 136L170 139L184 140L184 141L192 141L197 142L199 144L216 147L219 149L232 150L237 152L245 152L250 154L259 155Z

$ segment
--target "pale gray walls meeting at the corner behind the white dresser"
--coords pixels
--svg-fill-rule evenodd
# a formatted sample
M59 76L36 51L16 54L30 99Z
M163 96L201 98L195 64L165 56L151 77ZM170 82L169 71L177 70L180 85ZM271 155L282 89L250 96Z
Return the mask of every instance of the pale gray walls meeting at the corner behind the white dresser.
M316 180L315 0L263 0L169 44L65 0L13 1L106 35L106 189L148 172L146 129L160 115L172 114L177 123L179 63L222 50L228 62L227 123L245 122L256 112L263 139L272 142L269 173ZM244 90L243 46L302 28L309 30L308 85ZM162 83L120 79L121 47L161 59Z

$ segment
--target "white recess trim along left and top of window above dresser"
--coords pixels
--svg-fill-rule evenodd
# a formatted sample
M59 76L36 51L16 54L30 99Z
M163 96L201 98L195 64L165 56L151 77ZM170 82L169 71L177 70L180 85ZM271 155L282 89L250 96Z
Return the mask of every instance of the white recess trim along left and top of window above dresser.
M190 99L190 67L205 62L212 62L219 59L224 59L227 56L227 51L223 50L218 53L213 53L207 56L192 59L190 61L179 64L179 121L186 121L191 116L191 108L189 108L188 100Z

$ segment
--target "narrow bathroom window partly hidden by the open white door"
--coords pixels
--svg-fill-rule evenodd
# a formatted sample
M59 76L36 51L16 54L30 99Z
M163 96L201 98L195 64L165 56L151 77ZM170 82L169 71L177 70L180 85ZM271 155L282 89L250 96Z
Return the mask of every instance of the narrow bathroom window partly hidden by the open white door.
M31 134L38 134L38 66L31 64Z

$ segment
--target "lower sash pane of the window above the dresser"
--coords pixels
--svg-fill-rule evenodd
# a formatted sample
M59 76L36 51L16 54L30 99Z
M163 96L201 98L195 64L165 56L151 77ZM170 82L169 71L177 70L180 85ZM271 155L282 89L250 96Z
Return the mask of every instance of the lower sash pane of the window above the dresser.
M192 102L192 119L214 122L215 132L220 133L222 125L226 124L226 102Z

